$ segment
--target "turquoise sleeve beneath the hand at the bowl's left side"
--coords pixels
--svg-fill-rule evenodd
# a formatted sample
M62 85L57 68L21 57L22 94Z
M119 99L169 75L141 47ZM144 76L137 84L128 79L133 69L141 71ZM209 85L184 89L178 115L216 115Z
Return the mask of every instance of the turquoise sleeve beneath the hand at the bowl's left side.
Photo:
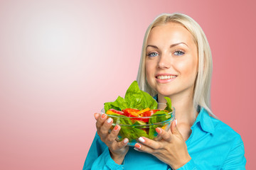
M110 157L110 151L104 142L100 140L100 136L95 135L92 145L89 149L85 164L82 170L121 170L124 169L124 165L119 165L114 162Z

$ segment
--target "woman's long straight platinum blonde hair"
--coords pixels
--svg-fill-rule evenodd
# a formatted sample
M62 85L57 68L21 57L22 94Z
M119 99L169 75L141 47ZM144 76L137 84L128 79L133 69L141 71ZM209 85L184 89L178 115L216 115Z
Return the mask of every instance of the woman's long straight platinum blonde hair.
M191 35L198 47L198 75L193 91L193 106L195 111L198 106L201 106L210 113L213 117L212 111L210 111L210 79L213 70L213 62L210 52L210 45L206 39L206 35L203 33L201 26L193 20L193 18L186 16L182 13L163 13L156 17L154 21L147 28L144 41L142 45L142 56L139 63L139 71L137 74L137 81L139 88L146 91L151 96L156 95L156 91L151 89L148 82L146 81L146 69L145 69L145 58L146 58L146 42L149 37L149 33L152 28L156 26L163 26L166 23L179 23L185 27Z

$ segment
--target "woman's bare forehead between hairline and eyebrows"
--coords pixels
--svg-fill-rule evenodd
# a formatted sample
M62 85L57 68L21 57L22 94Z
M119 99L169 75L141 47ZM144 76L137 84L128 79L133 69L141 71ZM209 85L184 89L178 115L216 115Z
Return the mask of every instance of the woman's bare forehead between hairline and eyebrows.
M179 23L167 23L163 26L152 28L146 44L171 45L178 42L195 45L193 35L184 26Z

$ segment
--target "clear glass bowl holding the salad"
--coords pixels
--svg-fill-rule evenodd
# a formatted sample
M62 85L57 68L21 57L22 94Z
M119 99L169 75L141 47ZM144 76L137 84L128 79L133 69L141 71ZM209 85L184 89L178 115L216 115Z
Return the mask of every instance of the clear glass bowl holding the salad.
M161 105L161 106L160 106ZM163 110L166 105L165 103L159 103L159 109ZM146 125L127 125L127 121L132 121L134 123L134 120L136 120L138 117L124 117L124 116L116 116L116 115L107 115L108 118L113 119L111 130L114 128L115 125L119 125L121 127L121 130L119 131L119 134L117 136L117 141L124 140L124 138L128 138L129 146L134 146L139 140L139 137L148 137L151 140L161 140L161 137L158 136L158 133L156 132L156 128L162 128L166 131L170 129L171 122L175 118L175 108L171 108L172 111L167 114L162 115L151 115L149 117L139 117L139 119L150 119L154 118L156 123L146 124ZM101 113L105 113L104 108L102 108ZM160 121L164 120L164 121Z

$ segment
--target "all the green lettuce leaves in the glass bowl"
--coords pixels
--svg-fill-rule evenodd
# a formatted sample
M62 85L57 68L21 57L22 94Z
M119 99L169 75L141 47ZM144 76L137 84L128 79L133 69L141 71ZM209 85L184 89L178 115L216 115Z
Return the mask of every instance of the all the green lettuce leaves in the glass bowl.
M168 97L165 97L166 99L166 108L165 110L168 112L171 112L171 99ZM107 113L110 108L114 108L117 111L122 111L125 108L137 108L139 110L143 110L144 108L150 108L151 110L157 109L158 103L156 100L147 94L146 92L142 91L139 89L139 85L137 81L133 81L132 84L129 86L127 89L127 92L124 96L124 98L118 96L117 100L114 102L107 102L104 103L105 106L105 113ZM153 116L152 118L149 119L149 124L154 124L154 123L159 123L165 120L168 120L171 118L171 115L168 115L166 111L157 111L154 113L154 115L158 116ZM132 125L132 121L129 120L129 118L124 118L126 116L124 115L119 115L117 113L113 113L112 115L117 115L120 118L113 118L114 122L117 121L117 124L122 124L122 125ZM130 139L137 139L138 137L144 136L144 137L149 137L150 139L153 139L156 137L156 129L157 125L152 126L149 129L144 128L138 129L138 128L131 128L131 127L126 127L122 126L121 130L119 131L119 135L123 137L127 137L129 140ZM129 141L132 142L132 141Z

